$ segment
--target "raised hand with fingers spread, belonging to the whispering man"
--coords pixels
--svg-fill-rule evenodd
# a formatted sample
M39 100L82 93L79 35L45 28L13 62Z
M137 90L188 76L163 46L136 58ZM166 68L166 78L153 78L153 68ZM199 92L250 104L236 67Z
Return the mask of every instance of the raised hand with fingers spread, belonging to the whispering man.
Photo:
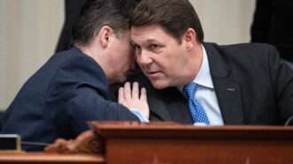
M118 101L120 104L129 109L140 111L146 118L149 119L150 109L147 101L146 89L142 88L141 95L139 95L138 83L135 82L130 87L130 83L125 83L124 87L120 87Z

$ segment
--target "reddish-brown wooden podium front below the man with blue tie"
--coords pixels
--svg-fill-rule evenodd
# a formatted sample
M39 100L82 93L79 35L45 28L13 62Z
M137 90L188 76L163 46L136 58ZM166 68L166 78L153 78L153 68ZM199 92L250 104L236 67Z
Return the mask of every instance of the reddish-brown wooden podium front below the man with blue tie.
M107 164L292 163L293 128L93 123Z

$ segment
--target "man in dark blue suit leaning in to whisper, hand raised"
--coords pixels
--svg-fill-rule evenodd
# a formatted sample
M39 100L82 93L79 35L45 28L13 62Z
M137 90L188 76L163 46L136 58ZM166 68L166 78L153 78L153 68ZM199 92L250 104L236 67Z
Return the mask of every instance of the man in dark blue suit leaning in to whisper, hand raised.
M108 89L108 84L125 81L135 64L128 15L134 6L133 0L85 4L73 28L74 47L52 56L27 80L6 110L1 132L19 134L23 141L51 143L89 130L91 120L148 118L145 89L139 96L137 83L132 90L129 83L120 88L124 106L110 100Z

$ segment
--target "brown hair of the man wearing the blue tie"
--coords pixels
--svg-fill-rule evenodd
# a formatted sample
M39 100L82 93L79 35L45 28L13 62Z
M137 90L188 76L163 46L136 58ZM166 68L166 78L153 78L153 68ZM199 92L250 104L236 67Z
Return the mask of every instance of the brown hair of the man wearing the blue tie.
M197 33L197 41L204 41L204 32L197 12L188 0L142 0L132 15L132 26L158 24L181 42L188 28Z

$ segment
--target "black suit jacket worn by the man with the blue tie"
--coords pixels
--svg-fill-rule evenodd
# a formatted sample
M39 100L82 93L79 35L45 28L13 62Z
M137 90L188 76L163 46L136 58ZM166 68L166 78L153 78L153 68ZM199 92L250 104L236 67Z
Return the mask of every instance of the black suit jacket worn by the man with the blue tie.
M274 47L204 43L204 48L225 124L277 125L293 115L293 71ZM150 120L192 123L177 87L156 90L142 73L131 80L147 88Z

